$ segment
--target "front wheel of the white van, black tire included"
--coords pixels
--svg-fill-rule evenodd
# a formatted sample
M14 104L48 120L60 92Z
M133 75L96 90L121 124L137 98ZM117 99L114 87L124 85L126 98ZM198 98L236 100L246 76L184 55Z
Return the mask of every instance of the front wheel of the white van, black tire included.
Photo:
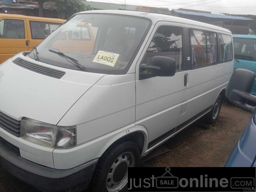
M92 192L122 192L127 187L128 166L139 164L140 151L132 141L111 146L99 159L90 184ZM117 184L118 183L118 184Z

